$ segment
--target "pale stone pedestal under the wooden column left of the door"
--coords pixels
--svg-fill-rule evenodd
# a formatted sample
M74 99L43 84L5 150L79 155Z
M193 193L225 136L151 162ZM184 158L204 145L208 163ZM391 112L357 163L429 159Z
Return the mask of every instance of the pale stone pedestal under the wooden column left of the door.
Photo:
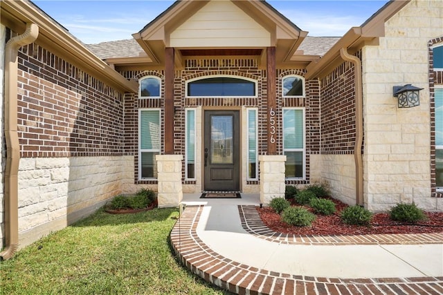
M178 207L183 200L181 185L182 155L156 155L159 208Z

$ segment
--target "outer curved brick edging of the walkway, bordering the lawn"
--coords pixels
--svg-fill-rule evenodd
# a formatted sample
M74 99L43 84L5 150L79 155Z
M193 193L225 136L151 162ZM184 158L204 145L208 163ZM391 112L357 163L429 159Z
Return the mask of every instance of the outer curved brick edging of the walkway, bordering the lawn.
M237 294L443 294L443 277L320 278L269 272L217 254L197 235L204 206L187 206L170 234L172 247L191 272Z

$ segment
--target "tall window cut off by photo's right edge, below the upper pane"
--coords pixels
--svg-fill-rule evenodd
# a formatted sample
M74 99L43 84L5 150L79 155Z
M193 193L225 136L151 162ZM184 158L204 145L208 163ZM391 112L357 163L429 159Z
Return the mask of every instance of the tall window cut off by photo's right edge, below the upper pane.
M443 87L435 88L435 183L443 191Z

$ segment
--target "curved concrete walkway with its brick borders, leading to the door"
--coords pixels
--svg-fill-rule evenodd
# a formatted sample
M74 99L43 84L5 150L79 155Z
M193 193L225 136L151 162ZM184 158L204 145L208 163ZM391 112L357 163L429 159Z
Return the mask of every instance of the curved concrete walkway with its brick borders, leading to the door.
M171 233L183 263L239 294L443 294L443 233L282 235L262 225L258 202L183 196Z

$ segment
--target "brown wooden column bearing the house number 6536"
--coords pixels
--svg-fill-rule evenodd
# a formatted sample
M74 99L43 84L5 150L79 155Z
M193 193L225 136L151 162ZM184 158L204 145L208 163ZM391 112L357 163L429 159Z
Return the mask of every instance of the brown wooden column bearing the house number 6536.
M268 155L277 154L277 116L275 91L275 47L266 48L267 93L268 93Z

